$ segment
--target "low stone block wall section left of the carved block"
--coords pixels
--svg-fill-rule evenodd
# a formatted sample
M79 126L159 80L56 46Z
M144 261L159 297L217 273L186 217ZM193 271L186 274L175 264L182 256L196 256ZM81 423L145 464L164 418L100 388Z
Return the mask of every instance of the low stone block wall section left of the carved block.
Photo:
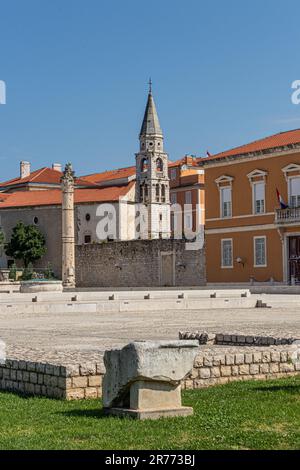
M67 400L98 398L102 376L101 364L60 366L7 359L0 364L0 389Z

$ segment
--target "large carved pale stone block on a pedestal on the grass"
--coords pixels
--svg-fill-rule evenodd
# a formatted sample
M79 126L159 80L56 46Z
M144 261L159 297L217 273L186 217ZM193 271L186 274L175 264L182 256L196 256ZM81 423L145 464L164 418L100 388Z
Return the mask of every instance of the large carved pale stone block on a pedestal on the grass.
M188 416L181 381L191 372L198 341L137 341L106 351L103 407L106 414L137 419Z

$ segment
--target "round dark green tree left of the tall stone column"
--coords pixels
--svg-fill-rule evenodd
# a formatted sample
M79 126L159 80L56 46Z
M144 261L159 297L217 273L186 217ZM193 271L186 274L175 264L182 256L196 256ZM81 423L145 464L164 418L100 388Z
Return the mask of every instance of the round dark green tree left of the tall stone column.
M25 268L46 253L46 240L38 227L18 222L13 228L5 253L13 259L22 260Z

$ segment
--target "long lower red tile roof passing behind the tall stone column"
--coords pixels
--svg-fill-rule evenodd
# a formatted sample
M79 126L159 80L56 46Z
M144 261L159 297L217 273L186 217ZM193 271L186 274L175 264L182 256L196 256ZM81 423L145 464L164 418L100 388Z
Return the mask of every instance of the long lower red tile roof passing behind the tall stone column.
M99 189L75 189L75 204L88 202L113 202L125 196L134 183L124 186L111 186ZM16 191L14 193L0 193L0 209L10 207L50 206L60 205L62 192L59 189L43 191Z

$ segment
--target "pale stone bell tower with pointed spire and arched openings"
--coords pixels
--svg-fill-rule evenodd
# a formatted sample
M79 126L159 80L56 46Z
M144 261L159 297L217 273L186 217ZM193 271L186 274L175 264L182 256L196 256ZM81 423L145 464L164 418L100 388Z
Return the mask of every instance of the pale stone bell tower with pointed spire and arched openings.
M136 154L136 202L147 208L148 238L170 238L168 155L152 96L152 82Z

